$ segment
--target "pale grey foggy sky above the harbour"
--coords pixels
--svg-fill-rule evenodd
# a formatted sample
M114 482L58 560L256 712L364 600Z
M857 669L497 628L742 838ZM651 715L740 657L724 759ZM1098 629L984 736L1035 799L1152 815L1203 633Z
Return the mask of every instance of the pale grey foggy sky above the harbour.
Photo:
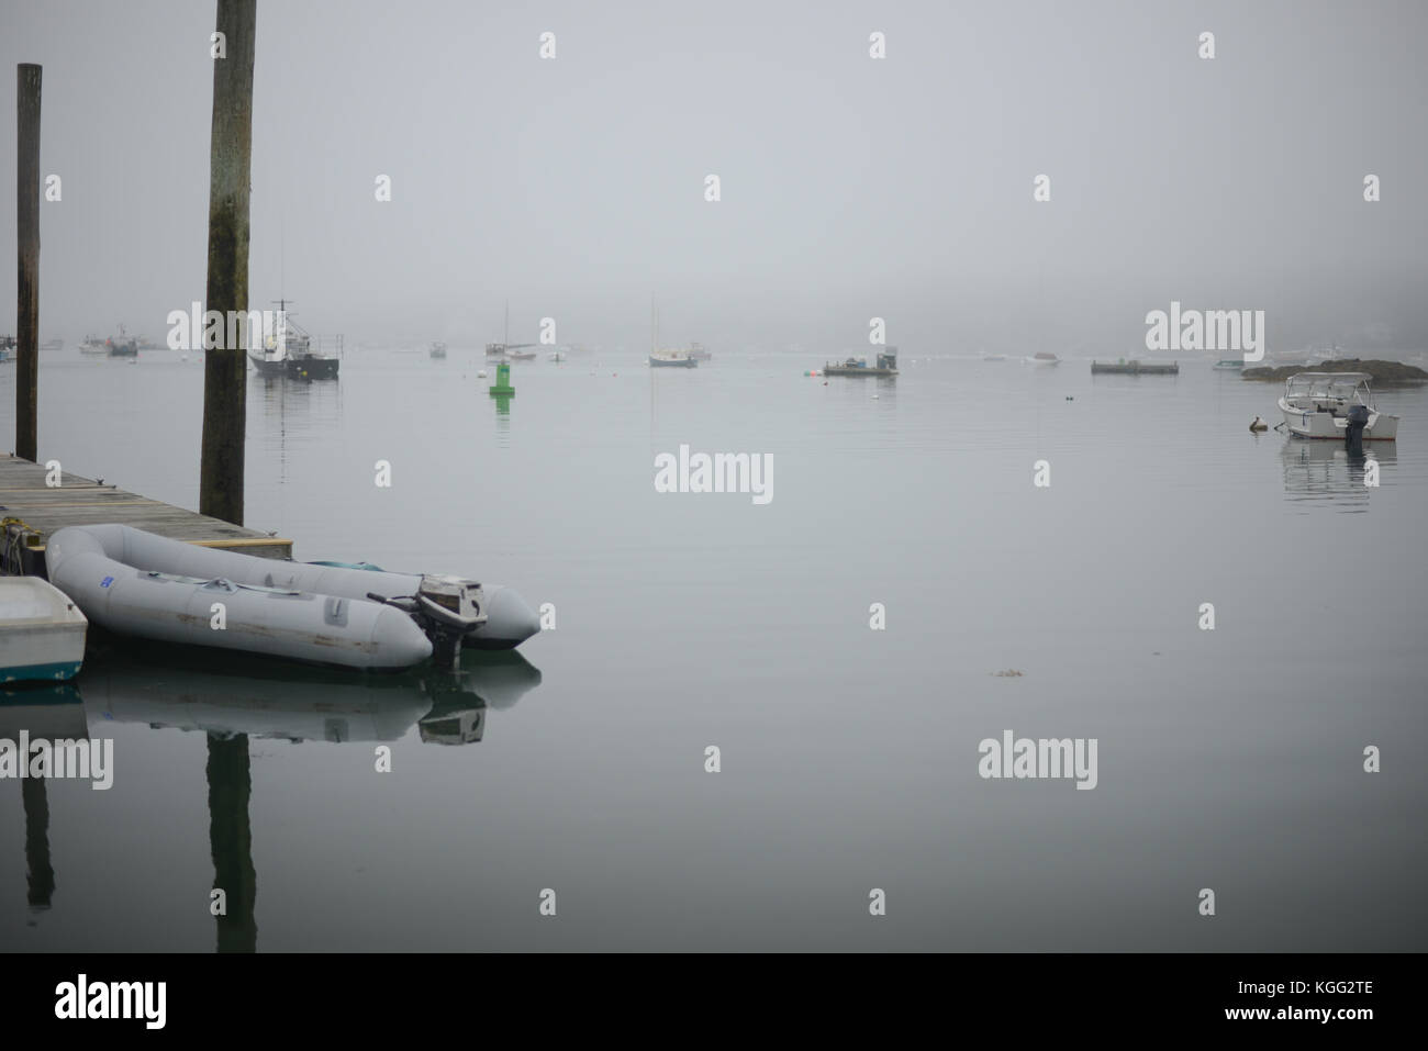
M0 0L0 331L20 61L63 180L41 338L160 338L203 300L213 27ZM510 298L513 340L641 348L651 293L665 343L730 350L883 316L904 353L1125 354L1172 298L1267 310L1271 350L1428 344L1419 3L263 0L257 27L250 306L348 344L476 346Z

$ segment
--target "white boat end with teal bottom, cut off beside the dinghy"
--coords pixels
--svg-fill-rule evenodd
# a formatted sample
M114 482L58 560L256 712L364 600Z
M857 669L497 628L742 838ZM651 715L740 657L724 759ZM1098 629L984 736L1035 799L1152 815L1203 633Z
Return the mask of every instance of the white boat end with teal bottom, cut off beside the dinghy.
M0 683L74 678L89 620L39 577L0 577Z

